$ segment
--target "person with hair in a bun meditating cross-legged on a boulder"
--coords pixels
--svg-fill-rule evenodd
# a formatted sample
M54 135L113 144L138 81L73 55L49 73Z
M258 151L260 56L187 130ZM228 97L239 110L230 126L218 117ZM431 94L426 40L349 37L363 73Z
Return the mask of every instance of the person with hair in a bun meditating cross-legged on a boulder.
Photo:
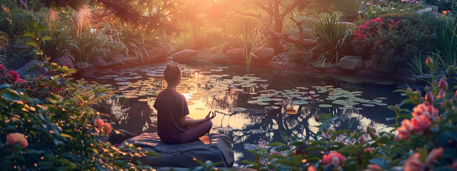
M204 119L192 119L184 95L176 91L181 82L181 69L177 65L167 65L164 71L168 86L160 91L154 102L157 110L157 134L170 144L192 142L208 134L213 127L216 114L209 112Z

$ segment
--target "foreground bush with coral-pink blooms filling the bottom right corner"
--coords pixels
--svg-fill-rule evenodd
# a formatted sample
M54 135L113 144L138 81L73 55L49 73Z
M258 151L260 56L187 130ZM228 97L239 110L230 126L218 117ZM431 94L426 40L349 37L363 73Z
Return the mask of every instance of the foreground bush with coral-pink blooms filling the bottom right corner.
M433 71L432 62L428 66ZM339 130L332 114L315 116L322 139L303 140L283 135L276 150L259 148L249 151L256 161L243 161L257 170L292 171L431 171L457 169L457 92L449 91L445 79L420 91L397 90L409 96L402 103L388 106L397 114L391 118L393 129L376 133L367 127L363 132ZM411 115L403 114L405 104L415 104ZM399 124L401 121L401 126ZM343 140L337 140L342 136ZM351 143L352 142L352 143Z

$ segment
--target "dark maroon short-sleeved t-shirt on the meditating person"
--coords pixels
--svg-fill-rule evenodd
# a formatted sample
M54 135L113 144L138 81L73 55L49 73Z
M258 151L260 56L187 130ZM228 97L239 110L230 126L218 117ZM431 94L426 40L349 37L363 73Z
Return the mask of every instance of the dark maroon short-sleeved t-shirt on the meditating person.
M154 102L157 110L157 134L163 141L174 142L184 134L188 126L182 126L179 118L189 114L186 97L175 90L163 89Z

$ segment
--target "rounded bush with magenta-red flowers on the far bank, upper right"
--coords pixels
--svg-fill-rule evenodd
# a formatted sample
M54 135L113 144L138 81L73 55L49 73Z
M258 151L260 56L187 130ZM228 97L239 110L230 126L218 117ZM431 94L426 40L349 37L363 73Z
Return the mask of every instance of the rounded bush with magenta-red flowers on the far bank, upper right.
M432 14L389 14L366 21L358 27L353 46L364 58L405 67L414 54L432 52L440 19Z

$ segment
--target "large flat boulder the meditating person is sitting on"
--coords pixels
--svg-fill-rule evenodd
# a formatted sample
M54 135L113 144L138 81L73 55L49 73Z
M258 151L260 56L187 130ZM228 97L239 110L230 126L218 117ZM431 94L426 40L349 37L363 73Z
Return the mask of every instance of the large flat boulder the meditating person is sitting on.
M193 161L196 158L200 161L222 162L218 167L227 167L235 161L232 143L227 135L204 135L200 140L172 145L161 141L157 133L143 133L125 140L118 148L122 150L126 143L160 155L160 158L143 156L138 159L143 165L149 166L193 168L199 166Z

